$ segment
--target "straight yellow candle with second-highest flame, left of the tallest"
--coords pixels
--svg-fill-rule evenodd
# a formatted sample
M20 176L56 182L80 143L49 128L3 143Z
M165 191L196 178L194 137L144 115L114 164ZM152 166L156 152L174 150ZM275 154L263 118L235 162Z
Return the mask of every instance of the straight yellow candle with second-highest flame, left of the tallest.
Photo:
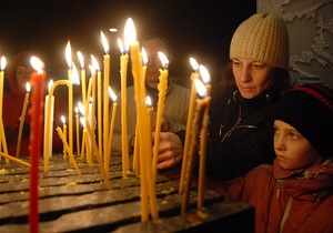
M103 101L103 129L104 129L104 134L103 134L103 156L104 156L104 163L105 163L105 160L109 156L108 153L108 129L109 129L109 82L110 82L110 54L109 54L109 51L110 51L110 47L109 47L109 43L108 43L108 40L104 36L104 33L101 31L101 38L102 38L102 43L103 43L103 48L104 48L104 91L103 91L103 98L104 98L104 101Z

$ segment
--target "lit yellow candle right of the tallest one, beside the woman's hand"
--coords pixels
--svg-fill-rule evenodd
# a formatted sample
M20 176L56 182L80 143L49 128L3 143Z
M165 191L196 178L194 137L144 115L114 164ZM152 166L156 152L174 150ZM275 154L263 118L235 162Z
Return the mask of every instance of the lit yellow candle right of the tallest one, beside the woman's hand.
M152 163L152 171L153 171L153 181L155 181L157 175L157 164L158 164L158 155L159 155L159 144L160 144L160 133L161 133L161 125L163 120L163 111L164 111L164 100L167 93L167 85L168 85L168 64L169 61L167 57L162 53L158 53L163 65L163 70L160 70L159 77L159 102L158 102L158 112L157 112L157 123L155 123L155 139L154 139L154 149L153 149L153 163Z

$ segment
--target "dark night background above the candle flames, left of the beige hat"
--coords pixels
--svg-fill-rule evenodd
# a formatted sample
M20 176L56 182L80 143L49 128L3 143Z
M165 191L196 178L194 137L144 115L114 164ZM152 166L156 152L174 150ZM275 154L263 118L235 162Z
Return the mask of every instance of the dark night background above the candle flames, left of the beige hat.
M67 70L68 40L74 62L80 50L85 64L93 54L102 67L103 31L111 48L111 85L118 85L117 38L123 39L125 21L132 18L139 39L152 32L169 39L171 75L188 80L190 57L218 75L234 30L255 11L255 0L8 0L0 6L0 55L10 62L19 52L33 52L44 61L49 77L60 77Z

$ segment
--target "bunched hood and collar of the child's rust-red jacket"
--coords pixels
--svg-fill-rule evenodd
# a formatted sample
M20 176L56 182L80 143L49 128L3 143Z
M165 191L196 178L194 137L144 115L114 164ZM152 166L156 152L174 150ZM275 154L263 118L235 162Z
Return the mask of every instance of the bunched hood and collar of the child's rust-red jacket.
M319 201L333 193L333 163L302 170L285 170L274 160L274 178L282 180L285 192L295 200Z

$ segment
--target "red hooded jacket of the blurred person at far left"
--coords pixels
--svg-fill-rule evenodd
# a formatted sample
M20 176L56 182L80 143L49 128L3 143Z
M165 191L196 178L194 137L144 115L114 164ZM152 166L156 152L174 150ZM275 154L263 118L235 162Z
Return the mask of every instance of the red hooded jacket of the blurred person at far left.
M17 61L22 57L31 57L32 54L23 52L18 54L13 61L10 63L9 72L8 72L8 83L10 92L3 95L3 107L2 107L2 120L3 126L6 131L6 140L8 146L8 153L12 156L16 155L17 151L17 143L18 143L18 131L20 124L20 116L22 113L24 95L18 87L17 87L17 78L16 78L16 70L17 70ZM48 84L46 82L46 84ZM33 89L31 90L33 91ZM46 92L47 94L47 92ZM31 97L31 94L30 94ZM20 155L27 156L29 155L29 143L30 143L30 121L31 115L28 113L31 104L29 102L27 108L27 113L24 118L24 130L22 133L21 139L21 148L20 148ZM54 97L54 124L56 122L60 121L60 115L68 114L68 107L65 102L61 98ZM59 124L59 123L58 123ZM59 124L61 125L61 124ZM62 142L59 139L57 131L53 132L53 152L61 152L62 151Z

